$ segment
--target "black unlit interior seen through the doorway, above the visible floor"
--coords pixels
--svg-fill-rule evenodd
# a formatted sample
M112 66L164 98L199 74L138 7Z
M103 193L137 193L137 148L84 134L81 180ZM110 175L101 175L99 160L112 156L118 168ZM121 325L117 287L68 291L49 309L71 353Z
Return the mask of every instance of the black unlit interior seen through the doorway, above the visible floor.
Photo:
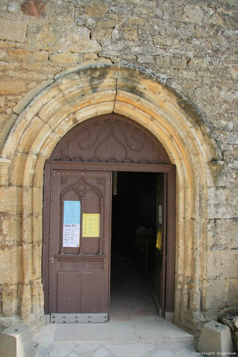
M156 175L117 172L116 194L112 198L112 294L122 284L123 289L127 289L126 284L128 288L131 285L136 287L143 281L152 294L156 250ZM128 291L133 294L133 289Z

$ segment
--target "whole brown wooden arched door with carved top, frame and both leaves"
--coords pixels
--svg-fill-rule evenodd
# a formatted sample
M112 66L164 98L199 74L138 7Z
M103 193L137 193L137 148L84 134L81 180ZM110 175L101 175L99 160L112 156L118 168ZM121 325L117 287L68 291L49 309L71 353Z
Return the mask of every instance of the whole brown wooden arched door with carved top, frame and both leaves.
M175 166L145 127L107 114L71 129L45 164L43 285L52 322L108 321L116 172L157 176L154 298L160 316L174 311Z

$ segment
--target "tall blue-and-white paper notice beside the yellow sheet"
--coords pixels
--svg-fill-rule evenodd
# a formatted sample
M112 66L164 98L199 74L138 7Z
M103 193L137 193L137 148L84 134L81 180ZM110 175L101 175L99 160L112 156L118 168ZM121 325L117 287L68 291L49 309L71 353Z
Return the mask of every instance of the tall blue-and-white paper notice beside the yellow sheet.
M64 201L63 246L80 246L80 201Z

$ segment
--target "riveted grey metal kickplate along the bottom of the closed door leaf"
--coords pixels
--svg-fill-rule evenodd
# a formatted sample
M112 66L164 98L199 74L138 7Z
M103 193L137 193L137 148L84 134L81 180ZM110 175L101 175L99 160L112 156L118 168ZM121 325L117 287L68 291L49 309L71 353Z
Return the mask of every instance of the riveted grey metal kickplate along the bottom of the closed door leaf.
M102 323L108 314L50 314L50 323Z

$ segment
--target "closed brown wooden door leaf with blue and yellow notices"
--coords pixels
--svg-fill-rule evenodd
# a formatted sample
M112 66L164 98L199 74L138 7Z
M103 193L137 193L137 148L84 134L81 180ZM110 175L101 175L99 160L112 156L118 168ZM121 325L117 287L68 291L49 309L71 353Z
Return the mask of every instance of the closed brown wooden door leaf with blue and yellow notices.
M45 165L46 313L109 311L112 172L78 166Z

